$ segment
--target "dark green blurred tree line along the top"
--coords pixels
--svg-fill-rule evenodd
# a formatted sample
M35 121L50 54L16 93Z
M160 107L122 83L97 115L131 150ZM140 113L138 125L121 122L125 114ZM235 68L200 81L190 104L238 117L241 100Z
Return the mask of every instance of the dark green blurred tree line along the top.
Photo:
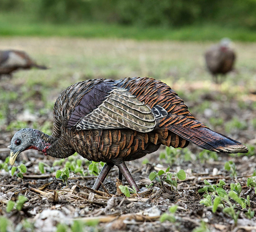
M51 23L106 22L180 27L218 24L256 28L256 0L1 0L0 13Z

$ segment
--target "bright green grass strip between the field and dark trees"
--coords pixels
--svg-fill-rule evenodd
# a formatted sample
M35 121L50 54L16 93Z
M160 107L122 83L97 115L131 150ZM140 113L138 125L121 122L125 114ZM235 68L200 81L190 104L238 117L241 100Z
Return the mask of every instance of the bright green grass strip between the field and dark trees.
M87 38L132 38L137 40L216 41L229 37L236 41L255 41L256 32L244 28L216 25L168 27L135 27L104 23L38 22L26 15L1 12L1 36L70 36Z

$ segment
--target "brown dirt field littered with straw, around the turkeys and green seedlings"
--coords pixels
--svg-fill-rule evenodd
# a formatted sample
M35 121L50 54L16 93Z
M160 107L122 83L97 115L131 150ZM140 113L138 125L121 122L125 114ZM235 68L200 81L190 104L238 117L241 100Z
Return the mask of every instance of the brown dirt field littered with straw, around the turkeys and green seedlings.
M139 160L127 162L135 181L144 192L132 197L116 193L117 168L108 174L100 191L91 187L96 176L87 172L88 162L83 160L87 176L70 172L67 186L55 178L56 170L66 161L53 166L56 159L37 151L24 151L16 164L24 163L27 172L21 179L9 171L0 170L0 216L9 220L8 231L56 231L61 224L71 231L74 220L83 225L72 231L256 231L256 219L248 219L249 207L231 200L239 212L237 225L234 219L219 207L199 203L204 193L198 193L204 180L217 184L224 180L227 192L230 184L240 183L240 197L250 196L252 211L256 208L255 189L247 186L247 178L255 170L256 143L256 68L255 43L236 43L238 59L236 70L224 78L221 85L212 82L204 67L203 53L210 43L136 42L133 40L75 39L75 38L1 38L0 49L26 50L38 63L50 67L46 71L30 70L14 73L12 79L0 80L0 163L9 156L7 145L13 134L23 127L52 132L52 106L61 90L77 81L106 77L151 76L169 84L188 105L192 114L210 128L228 135L250 148L248 155L220 153L216 159L198 154L202 149L189 145L185 152L174 154L172 159L160 159L159 151ZM189 153L186 158L185 153ZM145 159L148 159L145 162ZM171 163L172 161L172 163ZM233 161L237 177L224 169ZM49 165L45 173L39 171L39 162ZM147 164L145 164L147 163ZM187 178L178 180L177 190L171 185L151 181L152 171L171 172L184 169ZM16 172L17 173L17 172ZM125 184L125 182L123 182ZM6 212L9 200L16 201L25 195L28 201L21 210ZM160 222L163 213L178 205L173 214L175 222ZM228 206L226 204L226 206ZM225 206L225 207L226 207ZM170 214L170 213L169 213ZM205 228L202 226L205 223ZM1 226L0 226L1 227ZM60 225L58 226L60 229Z

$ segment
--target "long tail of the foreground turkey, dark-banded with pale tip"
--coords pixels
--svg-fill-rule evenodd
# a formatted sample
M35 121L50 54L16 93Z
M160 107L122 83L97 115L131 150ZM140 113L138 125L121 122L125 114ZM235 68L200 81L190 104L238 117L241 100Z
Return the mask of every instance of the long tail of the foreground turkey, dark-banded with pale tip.
M248 149L242 143L219 134L207 127L184 127L180 124L170 125L168 129L180 137L196 144L197 146L217 152L247 153Z

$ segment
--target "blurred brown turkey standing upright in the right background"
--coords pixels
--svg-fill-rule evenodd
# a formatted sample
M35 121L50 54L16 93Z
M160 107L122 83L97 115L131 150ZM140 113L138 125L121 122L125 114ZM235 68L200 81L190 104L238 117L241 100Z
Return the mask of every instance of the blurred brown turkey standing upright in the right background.
M236 54L230 43L228 38L224 38L205 52L206 66L216 83L218 83L218 74L225 75L233 69Z

